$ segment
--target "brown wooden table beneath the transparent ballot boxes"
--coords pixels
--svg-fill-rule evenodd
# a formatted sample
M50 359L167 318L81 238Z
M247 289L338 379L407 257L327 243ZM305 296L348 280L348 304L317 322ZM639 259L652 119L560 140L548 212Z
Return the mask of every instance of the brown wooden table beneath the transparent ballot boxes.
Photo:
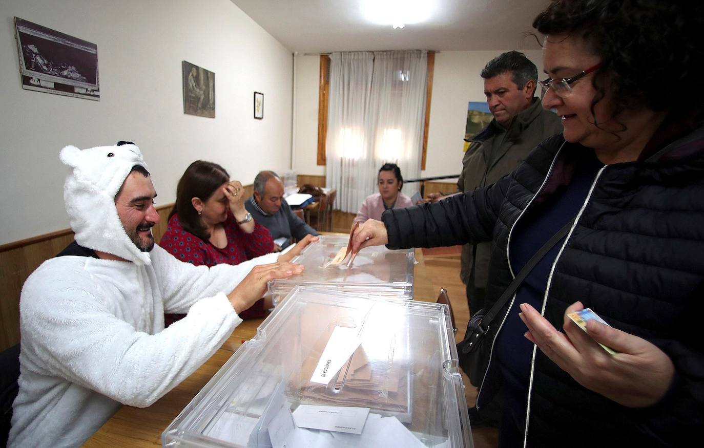
M432 282L427 277L420 249L415 250L415 257L418 263L413 275L414 299L435 302L437 291L433 290ZM205 364L150 407L123 406L84 447L161 447L161 433L237 348L256 335L262 321L263 319L251 319L242 322Z

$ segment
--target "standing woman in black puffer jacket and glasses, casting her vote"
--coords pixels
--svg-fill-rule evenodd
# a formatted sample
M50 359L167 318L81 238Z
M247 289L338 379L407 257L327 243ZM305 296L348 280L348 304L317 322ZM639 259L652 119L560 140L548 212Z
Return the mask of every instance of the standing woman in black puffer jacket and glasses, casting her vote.
M354 250L494 241L491 307L574 219L482 342L478 409L503 389L501 446L680 447L704 427L703 17L700 1L553 1L534 27L563 135L492 186L355 233ZM612 328L584 333L566 318L583 307Z

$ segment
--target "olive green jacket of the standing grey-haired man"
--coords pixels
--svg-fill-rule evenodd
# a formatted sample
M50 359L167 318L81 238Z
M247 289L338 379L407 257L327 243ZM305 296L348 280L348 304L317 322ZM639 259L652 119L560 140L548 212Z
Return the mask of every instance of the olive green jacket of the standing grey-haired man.
M538 143L555 134L562 134L560 117L542 108L539 98L516 115L504 129L496 120L470 139L470 147L462 159L462 173L457 181L459 191L474 191L512 172ZM474 256L473 255L474 253ZM491 243L465 244L462 249L460 277L464 283L474 268L474 287L486 288Z

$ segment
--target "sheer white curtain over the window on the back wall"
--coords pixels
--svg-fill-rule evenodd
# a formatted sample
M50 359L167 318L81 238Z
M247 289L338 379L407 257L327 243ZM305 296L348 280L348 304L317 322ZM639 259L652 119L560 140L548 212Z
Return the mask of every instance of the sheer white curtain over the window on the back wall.
M330 55L326 182L340 210L359 210L386 162L420 177L427 70L427 51Z

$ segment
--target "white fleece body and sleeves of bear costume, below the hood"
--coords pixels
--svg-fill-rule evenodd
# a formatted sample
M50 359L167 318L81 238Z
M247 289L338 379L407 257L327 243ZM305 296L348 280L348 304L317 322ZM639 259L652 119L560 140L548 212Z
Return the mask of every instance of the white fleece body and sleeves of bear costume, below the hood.
M12 445L77 446L120 403L155 402L241 322L224 291L276 257L208 269L155 246L151 266L87 257L44 262L20 301L22 376ZM163 329L163 303L180 303L174 309L188 314Z

